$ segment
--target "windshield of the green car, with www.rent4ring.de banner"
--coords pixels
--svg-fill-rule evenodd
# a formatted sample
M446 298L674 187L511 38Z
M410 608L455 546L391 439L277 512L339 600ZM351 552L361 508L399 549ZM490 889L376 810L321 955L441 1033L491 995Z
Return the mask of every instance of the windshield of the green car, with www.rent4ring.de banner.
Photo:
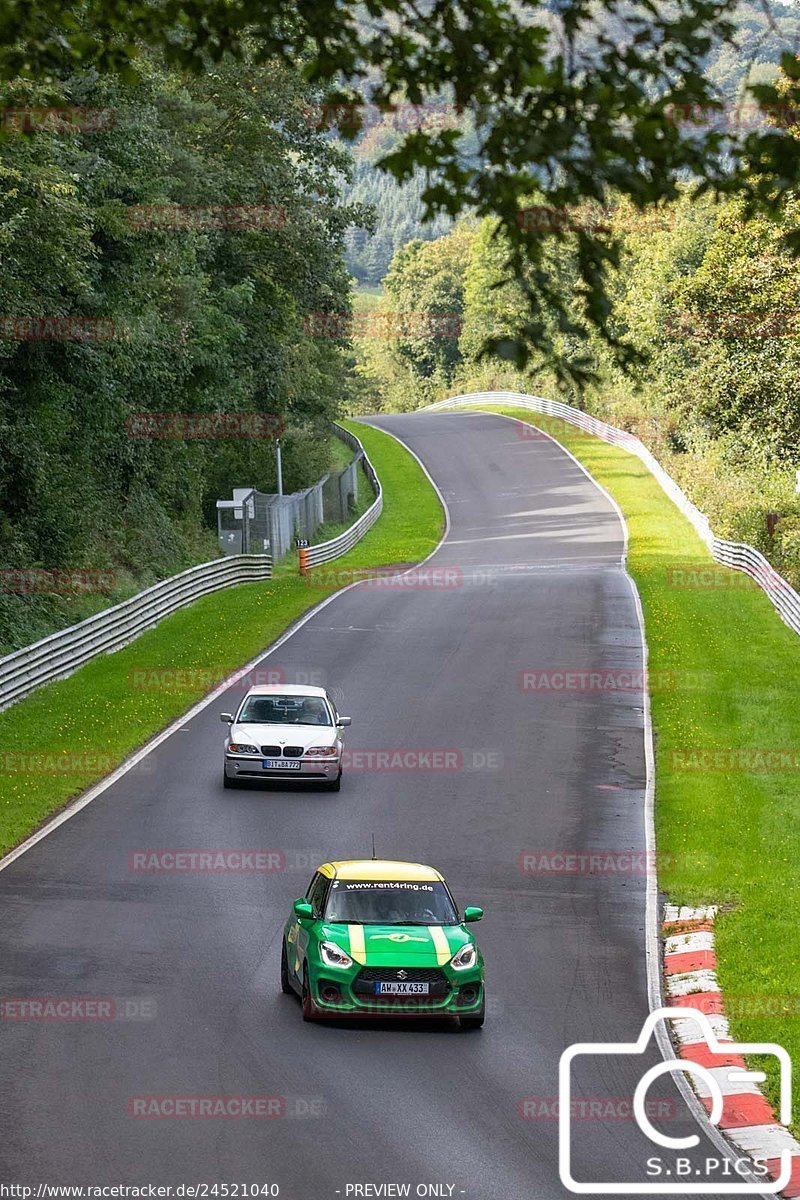
M444 883L408 880L333 880L325 920L354 925L457 925Z

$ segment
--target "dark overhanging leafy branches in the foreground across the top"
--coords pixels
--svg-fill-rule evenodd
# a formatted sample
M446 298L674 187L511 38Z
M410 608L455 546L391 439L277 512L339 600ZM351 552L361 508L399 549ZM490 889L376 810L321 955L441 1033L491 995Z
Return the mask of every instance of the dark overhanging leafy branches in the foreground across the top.
M506 271L528 304L517 358L551 362L563 382L581 383L591 373L590 356L565 361L546 314L561 314L559 334L569 340L585 342L588 326L596 328L630 364L630 349L609 324L607 282L619 245L601 230L578 234L576 319L572 296L546 269L545 246L560 234L521 228L525 196L540 192L545 205L563 210L587 199L603 203L613 188L644 208L676 198L688 174L702 190L739 194L751 210L766 211L798 182L800 143L786 131L738 138L675 119L721 106L704 68L715 44L734 40L736 4L640 0L621 10L616 0L558 7L541 0L431 0L423 7L373 0L362 16L356 0L300 7L287 0L169 0L133 8L115 0L10 0L0 17L0 72L59 77L86 64L131 71L142 42L163 47L173 62L206 68L225 53L241 55L252 36L259 61L302 62L329 104L422 104L444 89L473 115L477 164L465 160L461 130L420 128L380 166L401 182L427 173L423 200L432 217L471 210L500 220ZM753 94L763 106L796 108L800 61L788 52L781 65L786 95L770 83ZM326 120L342 125L341 114L329 108ZM344 124L357 132L357 120L345 115ZM792 245L800 250L800 233Z

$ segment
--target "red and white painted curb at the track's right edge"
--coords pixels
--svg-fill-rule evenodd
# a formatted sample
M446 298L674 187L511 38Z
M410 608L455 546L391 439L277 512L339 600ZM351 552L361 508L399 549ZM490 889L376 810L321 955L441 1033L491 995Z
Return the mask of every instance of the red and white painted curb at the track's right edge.
M720 1042L730 1042L730 1026L724 1015L724 1002L716 974L714 950L714 918L716 907L690 908L666 905L663 917L663 964L666 1003L694 1008L704 1013ZM781 1192L783 1196L800 1196L800 1142L782 1126L772 1106L751 1080L730 1080L726 1068L745 1070L745 1061L729 1054L720 1060L711 1056L706 1043L698 1037L699 1026L687 1019L670 1022L678 1043L678 1056L709 1068L723 1097L720 1129L735 1151L748 1158L766 1162L770 1177L781 1171L781 1152L792 1154L792 1178ZM711 1098L700 1076L692 1075L700 1103L710 1111Z

